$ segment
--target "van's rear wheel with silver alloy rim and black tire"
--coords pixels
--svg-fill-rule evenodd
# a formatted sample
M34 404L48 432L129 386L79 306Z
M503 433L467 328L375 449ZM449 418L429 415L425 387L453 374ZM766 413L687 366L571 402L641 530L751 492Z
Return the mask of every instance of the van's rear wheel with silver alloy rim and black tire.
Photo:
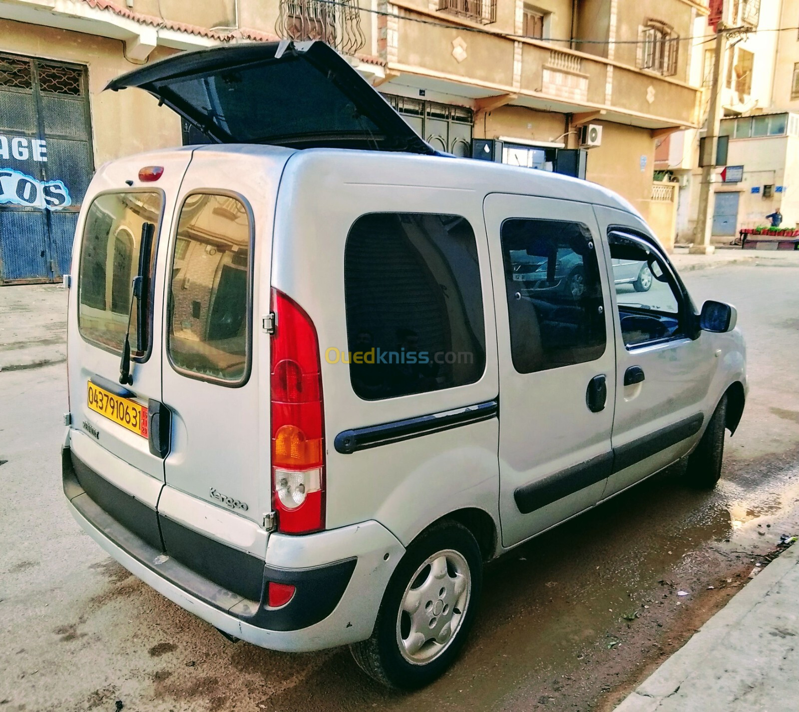
M435 524L407 548L386 587L372 637L352 644L352 657L385 686L415 690L429 684L466 642L482 587L483 559L471 531L448 520ZM411 615L405 609L414 603ZM423 635L431 637L419 646Z

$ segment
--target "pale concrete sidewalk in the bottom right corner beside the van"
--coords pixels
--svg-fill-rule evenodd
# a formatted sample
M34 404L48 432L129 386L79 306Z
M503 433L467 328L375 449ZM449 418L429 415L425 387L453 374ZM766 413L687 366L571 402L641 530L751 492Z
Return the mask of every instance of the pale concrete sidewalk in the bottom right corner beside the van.
M796 712L799 545L785 550L615 712Z

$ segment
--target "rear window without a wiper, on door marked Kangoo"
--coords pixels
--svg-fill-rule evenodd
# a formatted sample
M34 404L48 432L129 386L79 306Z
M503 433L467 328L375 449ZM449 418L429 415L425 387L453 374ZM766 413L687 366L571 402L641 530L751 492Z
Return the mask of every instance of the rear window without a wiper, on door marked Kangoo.
M179 371L240 384L250 348L248 210L235 197L196 193L181 208L169 285L167 352Z

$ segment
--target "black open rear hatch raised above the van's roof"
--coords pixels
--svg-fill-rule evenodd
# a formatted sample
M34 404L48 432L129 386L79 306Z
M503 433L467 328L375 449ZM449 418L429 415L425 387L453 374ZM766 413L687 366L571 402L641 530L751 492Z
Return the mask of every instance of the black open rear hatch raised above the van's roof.
M109 82L137 86L216 143L435 154L324 42L260 42L166 58Z

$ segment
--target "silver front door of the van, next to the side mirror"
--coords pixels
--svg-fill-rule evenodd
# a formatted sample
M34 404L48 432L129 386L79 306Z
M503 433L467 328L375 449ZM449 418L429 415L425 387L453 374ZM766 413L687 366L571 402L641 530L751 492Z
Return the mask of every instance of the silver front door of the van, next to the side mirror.
M694 305L646 225L595 208L614 263L614 473L604 497L673 463L696 442L715 364Z

